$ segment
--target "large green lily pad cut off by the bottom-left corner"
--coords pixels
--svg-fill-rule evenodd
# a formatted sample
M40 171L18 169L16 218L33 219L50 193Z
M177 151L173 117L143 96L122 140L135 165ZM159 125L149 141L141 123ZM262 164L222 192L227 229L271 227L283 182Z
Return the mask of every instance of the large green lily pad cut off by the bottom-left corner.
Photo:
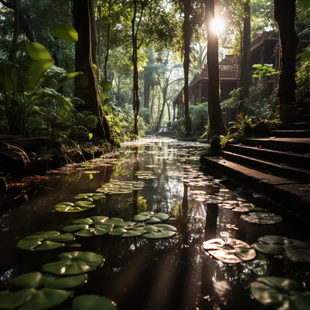
M18 292L0 292L0 308L19 310L43 310L56 307L71 296L71 291L44 288L24 289Z

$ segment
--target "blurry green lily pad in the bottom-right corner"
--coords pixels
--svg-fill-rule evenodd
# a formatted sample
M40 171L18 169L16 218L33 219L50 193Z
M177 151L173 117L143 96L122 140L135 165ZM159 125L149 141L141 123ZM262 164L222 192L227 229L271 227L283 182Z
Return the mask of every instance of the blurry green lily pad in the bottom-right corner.
M308 310L310 291L303 292L298 282L287 278L259 277L250 287L251 294L266 307L277 310Z

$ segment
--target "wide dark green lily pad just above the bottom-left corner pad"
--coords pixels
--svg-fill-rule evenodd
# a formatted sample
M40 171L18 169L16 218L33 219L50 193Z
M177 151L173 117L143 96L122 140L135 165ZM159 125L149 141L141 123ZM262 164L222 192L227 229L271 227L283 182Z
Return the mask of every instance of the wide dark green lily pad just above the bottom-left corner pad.
M83 284L87 279L86 273L77 276L55 277L42 275L41 272L28 272L10 281L10 284L23 288L49 287L52 289L72 289Z

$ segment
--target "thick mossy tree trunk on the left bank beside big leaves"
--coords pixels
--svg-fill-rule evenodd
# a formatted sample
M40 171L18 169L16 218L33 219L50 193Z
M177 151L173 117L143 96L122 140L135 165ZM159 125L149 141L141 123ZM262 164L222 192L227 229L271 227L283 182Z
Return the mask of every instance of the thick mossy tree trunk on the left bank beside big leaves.
M83 72L74 79L74 97L82 99L85 102L82 109L89 109L98 118L93 133L111 143L110 126L100 100L94 0L74 0L73 20L78 32L75 70Z

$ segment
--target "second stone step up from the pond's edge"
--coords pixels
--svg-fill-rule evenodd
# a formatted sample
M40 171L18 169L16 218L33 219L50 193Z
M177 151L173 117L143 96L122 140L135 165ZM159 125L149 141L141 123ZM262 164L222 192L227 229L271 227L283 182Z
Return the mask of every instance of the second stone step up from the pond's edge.
M227 158L233 162L246 164L248 166L253 166L256 169L264 170L264 172L266 172L267 174L278 174L302 182L310 183L310 170L305 169L301 166L288 166L285 163L280 164L274 161L262 160L260 158L249 157L228 151L221 151L220 156L225 157L225 159ZM299 164L299 162L296 162L296 164Z

